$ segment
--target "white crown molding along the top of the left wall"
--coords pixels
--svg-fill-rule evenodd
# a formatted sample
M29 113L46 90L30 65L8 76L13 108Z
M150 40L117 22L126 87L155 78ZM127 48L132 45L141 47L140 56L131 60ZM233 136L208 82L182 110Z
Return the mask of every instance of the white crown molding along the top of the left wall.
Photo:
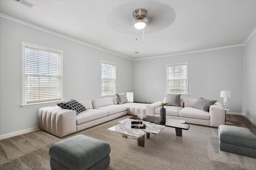
M16 18L7 16L7 15L2 14L2 13L0 13L0 17L3 17L3 18L6 18L6 19L8 19L8 20L12 20L12 21L21 23L21 24L23 24L23 25L27 25L27 26L29 26L29 27L33 27L33 28L39 29L39 30L41 30L41 31L44 31L44 32L47 32L47 33L50 33L50 34L53 34L53 35L57 35L57 36L59 36L59 37L62 37L62 38L65 38L65 39L74 41L74 42L76 42L76 43L80 43L80 44L83 44L83 45L86 45L86 46L89 46L89 47L93 47L93 48L99 49L99 50L101 50L101 51L105 51L105 52L107 52L107 53L111 53L111 54L114 54L114 55L118 55L118 56L120 56L120 57L124 57L124 58L126 58L126 59L133 60L133 59L131 59L130 57L126 57L126 56L124 56L124 55L120 55L120 54L118 54L118 53L114 53L114 52L112 52L112 51L108 51L108 50L106 50L106 49L102 49L102 48L100 48L100 47L97 47L97 46L94 46L94 45L85 43L85 42L83 42L83 41L79 41L79 40L77 40L77 39L68 37L68 36L66 36L66 35L62 35L62 34L60 34L60 33L56 33L56 32L54 32L54 31L50 31L50 30L45 29L45 28L42 28L42 27L38 27L38 26L33 25L33 24L31 24L31 23L28 23L28 22L25 22L25 21L22 21L22 20L18 20L18 19L16 19Z

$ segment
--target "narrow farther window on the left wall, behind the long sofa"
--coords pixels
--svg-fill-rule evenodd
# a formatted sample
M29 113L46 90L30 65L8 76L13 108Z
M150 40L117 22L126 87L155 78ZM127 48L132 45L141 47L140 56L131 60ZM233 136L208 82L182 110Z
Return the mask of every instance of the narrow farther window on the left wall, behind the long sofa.
M102 65L102 96L116 94L116 64L101 62Z

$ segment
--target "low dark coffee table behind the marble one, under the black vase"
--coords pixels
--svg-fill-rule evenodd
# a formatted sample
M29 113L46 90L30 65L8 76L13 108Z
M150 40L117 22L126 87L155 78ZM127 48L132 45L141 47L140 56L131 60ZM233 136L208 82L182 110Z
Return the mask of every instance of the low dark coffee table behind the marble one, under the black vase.
M130 119L138 119L137 116L132 116ZM167 127L174 127L176 131L176 136L182 137L182 129L188 130L190 125L185 124L186 121L178 119L166 118L166 122L160 122L160 117L147 116L143 119L144 121L154 122L158 125L164 125Z

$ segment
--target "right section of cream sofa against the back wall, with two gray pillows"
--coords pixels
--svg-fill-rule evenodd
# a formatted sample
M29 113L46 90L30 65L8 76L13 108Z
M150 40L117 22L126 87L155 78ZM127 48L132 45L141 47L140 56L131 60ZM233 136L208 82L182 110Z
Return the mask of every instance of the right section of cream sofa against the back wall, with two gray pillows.
M180 107L164 106L166 118L185 120L186 123L218 127L225 123L225 111L219 102L211 105L208 111L192 107L196 99L180 99ZM160 117L161 102L146 106L146 115Z

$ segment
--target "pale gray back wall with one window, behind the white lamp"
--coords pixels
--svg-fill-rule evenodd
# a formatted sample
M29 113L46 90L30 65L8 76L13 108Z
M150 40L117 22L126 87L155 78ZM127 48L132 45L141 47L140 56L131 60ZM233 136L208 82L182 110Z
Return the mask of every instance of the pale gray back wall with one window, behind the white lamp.
M182 98L218 100L230 90L228 109L242 112L243 46L134 61L134 101L162 101L166 94L166 64L188 62L188 93Z

